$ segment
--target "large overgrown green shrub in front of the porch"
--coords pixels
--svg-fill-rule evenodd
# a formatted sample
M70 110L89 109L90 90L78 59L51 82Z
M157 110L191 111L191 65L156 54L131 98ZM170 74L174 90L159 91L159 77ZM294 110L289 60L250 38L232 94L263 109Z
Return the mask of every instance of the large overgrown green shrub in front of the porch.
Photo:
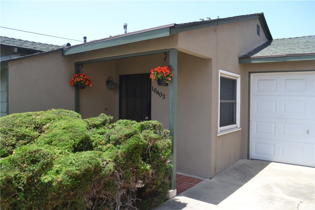
M111 121L66 110L2 117L1 209L151 209L165 201L169 131L157 121Z

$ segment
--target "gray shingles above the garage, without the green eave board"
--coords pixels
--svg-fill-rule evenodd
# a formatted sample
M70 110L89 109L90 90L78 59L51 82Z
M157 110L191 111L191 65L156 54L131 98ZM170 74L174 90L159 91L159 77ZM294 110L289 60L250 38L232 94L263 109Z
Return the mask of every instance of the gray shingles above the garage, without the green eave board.
M241 56L241 58L314 53L315 36L313 35L269 40L249 53Z

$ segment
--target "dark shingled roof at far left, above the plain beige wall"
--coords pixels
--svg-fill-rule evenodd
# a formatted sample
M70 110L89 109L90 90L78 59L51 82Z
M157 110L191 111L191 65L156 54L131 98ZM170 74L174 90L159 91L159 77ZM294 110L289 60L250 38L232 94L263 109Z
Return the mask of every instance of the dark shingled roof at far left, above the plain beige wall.
M31 42L27 40L14 39L14 38L3 37L3 36L0 36L0 44L14 46L18 48L38 50L41 52L48 52L51 50L63 48L62 46L59 46L59 45Z

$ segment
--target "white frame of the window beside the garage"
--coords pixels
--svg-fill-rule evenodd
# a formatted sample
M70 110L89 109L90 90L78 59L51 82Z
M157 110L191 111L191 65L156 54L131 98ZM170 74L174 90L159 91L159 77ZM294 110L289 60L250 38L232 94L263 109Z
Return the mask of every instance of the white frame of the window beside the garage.
M220 127L220 80L221 77L236 80L236 124ZM222 135L240 130L240 99L241 99L241 75L219 69L219 113L218 113L218 133Z

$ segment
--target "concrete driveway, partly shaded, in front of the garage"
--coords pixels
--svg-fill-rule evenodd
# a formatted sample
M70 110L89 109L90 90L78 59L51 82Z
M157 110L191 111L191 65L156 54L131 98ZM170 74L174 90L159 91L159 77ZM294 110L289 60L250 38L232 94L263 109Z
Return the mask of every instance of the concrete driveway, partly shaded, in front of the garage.
M239 160L155 210L315 209L315 168Z

